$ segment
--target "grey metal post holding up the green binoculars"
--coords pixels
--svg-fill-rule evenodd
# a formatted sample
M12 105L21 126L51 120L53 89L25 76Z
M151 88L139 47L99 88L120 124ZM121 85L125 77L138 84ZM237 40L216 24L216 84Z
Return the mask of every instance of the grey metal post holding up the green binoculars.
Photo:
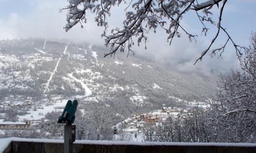
M71 124L66 124L64 127L64 153L73 153Z

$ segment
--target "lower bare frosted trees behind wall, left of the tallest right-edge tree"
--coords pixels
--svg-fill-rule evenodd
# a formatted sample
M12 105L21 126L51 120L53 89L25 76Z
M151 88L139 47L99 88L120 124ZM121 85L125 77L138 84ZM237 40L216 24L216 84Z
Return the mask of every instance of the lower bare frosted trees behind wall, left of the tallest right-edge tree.
M209 114L202 108L193 108L189 115L168 118L162 125L146 130L145 141L211 142Z

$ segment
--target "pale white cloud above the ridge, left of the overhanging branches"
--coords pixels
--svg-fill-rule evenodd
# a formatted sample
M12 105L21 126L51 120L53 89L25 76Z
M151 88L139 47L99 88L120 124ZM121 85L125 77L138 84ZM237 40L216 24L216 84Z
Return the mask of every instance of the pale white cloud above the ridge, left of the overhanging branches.
M11 14L6 21L0 21L0 39L42 37L52 39L68 39L71 41L88 41L103 43L102 28L89 17L83 29L77 25L68 33L63 30L66 24L66 11L59 12L67 3L63 1L37 1L30 3L32 9L26 15Z

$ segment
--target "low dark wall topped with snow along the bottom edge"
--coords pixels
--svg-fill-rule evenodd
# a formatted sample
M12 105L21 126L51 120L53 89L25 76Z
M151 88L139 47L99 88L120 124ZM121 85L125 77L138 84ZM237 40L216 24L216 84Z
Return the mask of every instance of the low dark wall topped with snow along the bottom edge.
M18 153L18 152L63 152L63 140L49 139L21 139L8 138L0 139L1 152ZM11 149L10 145L11 143ZM8 147L9 145L9 147ZM7 149L5 149L7 148ZM76 140L74 144L74 152L83 153L122 153L122 152L245 152L255 153L255 143L175 143L175 142L125 142L125 141L90 141Z

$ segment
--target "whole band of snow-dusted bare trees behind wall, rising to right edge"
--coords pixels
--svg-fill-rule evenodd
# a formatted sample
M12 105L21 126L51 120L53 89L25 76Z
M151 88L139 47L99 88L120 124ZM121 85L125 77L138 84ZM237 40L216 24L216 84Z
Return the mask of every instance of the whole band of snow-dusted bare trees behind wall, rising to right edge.
M146 141L256 142L256 33L239 58L242 71L222 76L217 98L206 110L194 108L185 118L169 119L149 129Z

